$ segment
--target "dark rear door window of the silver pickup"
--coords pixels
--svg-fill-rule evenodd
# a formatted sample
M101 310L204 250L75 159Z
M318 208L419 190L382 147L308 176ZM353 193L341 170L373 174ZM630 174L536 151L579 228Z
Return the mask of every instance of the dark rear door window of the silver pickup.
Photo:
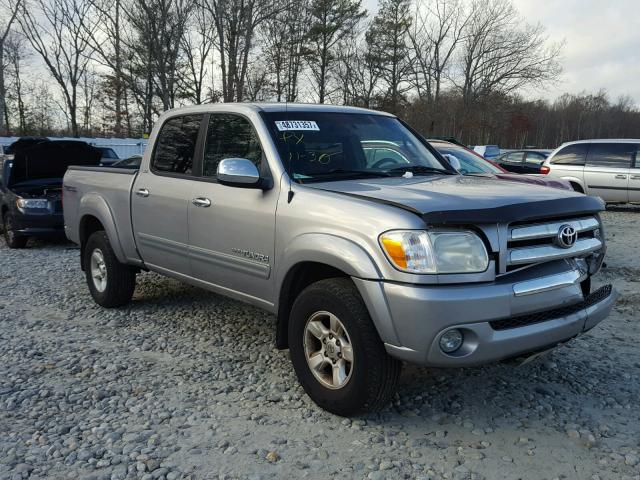
M164 122L151 160L153 171L191 175L202 118L202 115L184 115Z

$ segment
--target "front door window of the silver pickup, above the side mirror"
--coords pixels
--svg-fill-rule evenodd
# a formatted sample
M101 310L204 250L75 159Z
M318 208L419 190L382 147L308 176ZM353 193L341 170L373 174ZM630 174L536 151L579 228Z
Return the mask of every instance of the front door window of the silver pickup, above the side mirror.
M230 113L212 113L204 149L203 176L215 177L220 160L225 158L246 158L260 170L260 140L246 118Z

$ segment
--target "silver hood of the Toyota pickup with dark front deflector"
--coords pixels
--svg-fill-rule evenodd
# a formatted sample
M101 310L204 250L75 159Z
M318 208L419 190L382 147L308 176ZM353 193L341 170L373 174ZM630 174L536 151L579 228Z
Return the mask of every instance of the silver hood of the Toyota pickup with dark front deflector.
M596 213L599 198L529 183L462 175L375 178L307 186L410 210L429 223L496 223Z

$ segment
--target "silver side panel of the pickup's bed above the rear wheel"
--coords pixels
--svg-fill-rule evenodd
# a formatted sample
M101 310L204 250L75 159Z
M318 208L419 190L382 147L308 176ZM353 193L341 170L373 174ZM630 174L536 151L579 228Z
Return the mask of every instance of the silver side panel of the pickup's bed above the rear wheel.
M83 217L104 226L119 260L140 263L131 224L131 192L137 169L71 166L63 179L64 223L67 238L81 244Z

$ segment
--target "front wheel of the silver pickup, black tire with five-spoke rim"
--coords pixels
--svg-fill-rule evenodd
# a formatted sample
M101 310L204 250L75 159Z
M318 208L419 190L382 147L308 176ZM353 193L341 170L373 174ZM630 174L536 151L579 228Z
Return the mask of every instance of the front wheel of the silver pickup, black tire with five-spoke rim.
M331 413L351 416L379 410L395 393L401 363L386 352L348 278L321 280L300 293L289 317L289 349L307 395Z

